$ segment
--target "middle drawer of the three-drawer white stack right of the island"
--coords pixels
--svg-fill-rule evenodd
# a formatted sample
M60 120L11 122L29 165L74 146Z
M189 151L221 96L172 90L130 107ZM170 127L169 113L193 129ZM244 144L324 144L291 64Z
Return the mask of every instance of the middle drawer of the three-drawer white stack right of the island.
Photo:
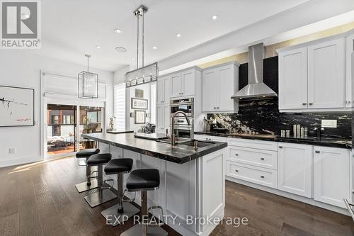
M229 161L251 164L256 167L278 169L278 152L251 149L247 147L230 147Z

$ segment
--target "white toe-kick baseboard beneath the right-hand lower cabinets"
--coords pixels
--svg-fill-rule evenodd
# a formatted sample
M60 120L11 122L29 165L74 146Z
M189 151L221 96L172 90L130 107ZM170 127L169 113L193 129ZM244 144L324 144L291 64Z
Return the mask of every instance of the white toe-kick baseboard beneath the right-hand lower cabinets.
M235 179L235 178L230 177L230 176L226 176L226 180L235 182L237 184L242 184L242 185L245 185L245 186L249 186L249 187L254 188L254 189L259 189L259 190L262 190L262 191L266 191L268 193L274 193L276 195L283 196L285 198L291 198L291 199L296 200L296 201L301 201L301 202L307 203L309 205L318 206L318 207L324 208L326 210L332 210L332 211L335 211L336 213L341 213L343 215L349 215L349 212L348 212L348 210L346 208L340 208L338 206L332 206L332 205L329 205L329 204L326 204L326 203L321 203L319 201L314 201L314 199L312 199L312 198L305 198L303 196L298 196L296 194L287 193L287 192L284 192L284 191L280 191L278 189L272 189L272 188L269 188L267 186L261 186L261 185L258 185L258 184L253 184L251 182L241 180L241 179Z

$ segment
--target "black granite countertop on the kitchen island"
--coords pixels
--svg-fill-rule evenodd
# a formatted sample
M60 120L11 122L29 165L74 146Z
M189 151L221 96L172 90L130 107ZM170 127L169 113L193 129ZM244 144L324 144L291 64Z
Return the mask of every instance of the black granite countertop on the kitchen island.
M210 142L211 145L199 147L198 150L194 150L193 147L187 145L171 147L168 143L136 138L133 133L93 133L84 134L82 137L178 164L189 162L227 147L227 142Z

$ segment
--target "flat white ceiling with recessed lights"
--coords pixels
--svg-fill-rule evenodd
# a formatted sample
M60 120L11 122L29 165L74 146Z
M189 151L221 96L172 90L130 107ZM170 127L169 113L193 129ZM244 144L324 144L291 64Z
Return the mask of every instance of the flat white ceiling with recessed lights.
M145 64L292 9L307 0L45 0L42 1L41 55L115 71L136 57L137 19L144 4ZM212 16L217 15L217 21ZM113 33L120 28L121 34ZM177 38L176 33L182 37ZM96 49L100 45L101 49ZM117 52L114 47L127 48ZM156 46L157 50L152 47Z

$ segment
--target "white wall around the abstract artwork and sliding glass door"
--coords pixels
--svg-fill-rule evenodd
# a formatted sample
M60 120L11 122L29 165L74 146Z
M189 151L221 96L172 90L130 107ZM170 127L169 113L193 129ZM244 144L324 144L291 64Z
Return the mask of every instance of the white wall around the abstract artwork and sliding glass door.
M0 128L0 167L39 161L40 154L40 71L76 76L86 67L42 57L24 50L0 51L0 85L35 89L35 126ZM92 69L107 83L106 123L113 115L113 72ZM8 148L15 148L9 154Z

